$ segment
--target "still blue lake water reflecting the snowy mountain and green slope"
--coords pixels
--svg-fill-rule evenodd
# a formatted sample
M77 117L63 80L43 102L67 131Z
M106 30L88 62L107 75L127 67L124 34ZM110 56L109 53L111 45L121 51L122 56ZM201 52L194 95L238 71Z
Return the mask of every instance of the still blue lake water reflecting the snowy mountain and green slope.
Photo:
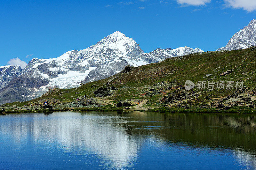
M256 169L256 115L0 116L1 169Z

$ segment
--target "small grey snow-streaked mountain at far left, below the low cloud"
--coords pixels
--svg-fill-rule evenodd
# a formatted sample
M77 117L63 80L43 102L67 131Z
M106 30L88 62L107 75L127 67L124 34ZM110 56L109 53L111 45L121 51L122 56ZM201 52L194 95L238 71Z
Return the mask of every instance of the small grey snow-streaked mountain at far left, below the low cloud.
M0 67L0 89L4 88L9 84L9 82L21 75L20 66L1 66Z

